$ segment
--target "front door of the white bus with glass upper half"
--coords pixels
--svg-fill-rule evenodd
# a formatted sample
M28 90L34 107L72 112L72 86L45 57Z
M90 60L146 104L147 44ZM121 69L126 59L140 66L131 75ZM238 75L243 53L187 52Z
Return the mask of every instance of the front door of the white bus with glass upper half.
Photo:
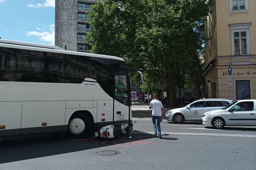
M128 82L127 74L115 74L114 125L129 123L130 93Z

